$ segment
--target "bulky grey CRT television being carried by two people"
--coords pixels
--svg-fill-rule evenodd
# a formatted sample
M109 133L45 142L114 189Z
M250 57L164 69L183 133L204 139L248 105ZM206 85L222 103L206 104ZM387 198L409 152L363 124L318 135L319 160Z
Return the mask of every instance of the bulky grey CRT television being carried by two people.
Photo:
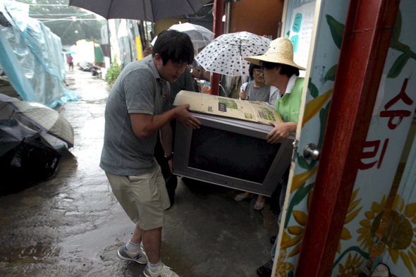
M294 137L267 142L274 128L206 113L191 113L199 129L176 124L173 171L207 183L271 196L290 165Z

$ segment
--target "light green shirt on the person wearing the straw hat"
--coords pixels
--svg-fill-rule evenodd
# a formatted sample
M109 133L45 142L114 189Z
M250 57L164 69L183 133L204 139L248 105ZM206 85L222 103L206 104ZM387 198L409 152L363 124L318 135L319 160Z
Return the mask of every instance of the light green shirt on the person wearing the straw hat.
M274 104L275 111L280 114L284 122L298 122L299 120L304 80L305 78L296 78L295 85L290 93L285 93Z

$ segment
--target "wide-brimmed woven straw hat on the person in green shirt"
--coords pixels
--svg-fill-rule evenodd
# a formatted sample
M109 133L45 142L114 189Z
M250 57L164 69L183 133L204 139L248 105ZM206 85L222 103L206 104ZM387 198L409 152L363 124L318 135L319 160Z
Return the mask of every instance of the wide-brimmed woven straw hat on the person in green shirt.
M289 39L284 37L274 39L274 41L270 43L269 50L267 50L264 55L250 56L244 59L250 63L257 64L257 66L261 66L262 61L269 61L271 63L283 63L288 66L299 68L300 70L306 70L306 68L298 66L293 61L293 44Z

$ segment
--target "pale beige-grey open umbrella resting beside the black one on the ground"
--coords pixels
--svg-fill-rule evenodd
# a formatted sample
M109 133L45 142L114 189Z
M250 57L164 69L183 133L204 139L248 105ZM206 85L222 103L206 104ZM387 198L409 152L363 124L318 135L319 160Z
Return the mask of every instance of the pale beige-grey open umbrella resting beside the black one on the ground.
M16 113L44 130L46 133L63 140L68 147L73 147L73 127L58 111L31 101L7 102Z

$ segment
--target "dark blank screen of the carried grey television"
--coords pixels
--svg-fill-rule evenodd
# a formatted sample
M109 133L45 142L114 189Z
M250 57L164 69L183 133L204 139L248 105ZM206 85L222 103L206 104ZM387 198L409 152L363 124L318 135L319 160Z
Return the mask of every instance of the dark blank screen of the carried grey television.
M192 132L188 166L263 183L280 145L202 125Z

